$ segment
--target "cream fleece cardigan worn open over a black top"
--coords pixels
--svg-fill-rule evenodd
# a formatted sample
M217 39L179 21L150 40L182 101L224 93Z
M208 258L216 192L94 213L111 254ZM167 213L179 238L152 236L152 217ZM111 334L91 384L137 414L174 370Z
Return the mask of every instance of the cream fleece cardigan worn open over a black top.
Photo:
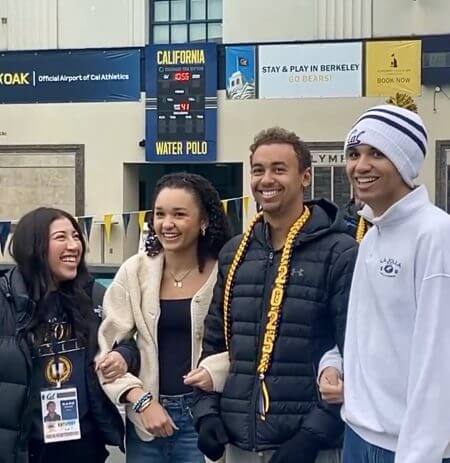
M103 385L105 393L115 404L119 404L122 394L134 387L150 391L156 399L159 396L158 320L161 312L159 288L163 262L162 253L156 257L148 257L145 253L134 255L123 263L105 293L104 320L98 332L98 357L109 352L116 342L129 339L134 334L137 334L136 343L141 355L139 377L127 373L113 383ZM203 322L212 299L216 278L217 264L206 283L192 298L192 368L197 366L200 358ZM210 373L214 390L221 392L229 370L227 352L204 359L201 366ZM103 383L101 373L99 376ZM126 413L139 437L144 441L152 440L153 436L142 425L139 414L133 412L129 404L126 405Z

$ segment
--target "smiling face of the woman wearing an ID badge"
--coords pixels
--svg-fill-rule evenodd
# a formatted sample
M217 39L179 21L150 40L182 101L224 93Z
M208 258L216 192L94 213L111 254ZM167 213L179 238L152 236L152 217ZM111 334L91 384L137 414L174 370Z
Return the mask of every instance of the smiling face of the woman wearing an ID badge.
M73 280L78 273L83 246L80 236L67 218L50 224L48 265L56 283Z

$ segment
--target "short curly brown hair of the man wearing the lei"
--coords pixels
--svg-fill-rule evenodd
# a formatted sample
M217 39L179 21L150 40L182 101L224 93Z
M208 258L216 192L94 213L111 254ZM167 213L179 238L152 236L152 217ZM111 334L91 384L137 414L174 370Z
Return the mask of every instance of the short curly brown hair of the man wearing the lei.
M291 145L297 155L298 165L301 171L311 167L311 151L308 145L301 140L295 132L289 132L281 127L271 127L261 130L256 134L253 143L250 145L250 161L255 151L262 145L284 143Z

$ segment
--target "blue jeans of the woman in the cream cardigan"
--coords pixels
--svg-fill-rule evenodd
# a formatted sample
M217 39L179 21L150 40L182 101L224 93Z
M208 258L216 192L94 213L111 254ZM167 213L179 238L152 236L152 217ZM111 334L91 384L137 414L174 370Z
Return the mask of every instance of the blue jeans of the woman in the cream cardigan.
M170 437L145 442L139 439L133 423L127 421L127 463L204 463L205 457L197 448L197 432L190 409L192 394L161 395L159 402L180 429Z

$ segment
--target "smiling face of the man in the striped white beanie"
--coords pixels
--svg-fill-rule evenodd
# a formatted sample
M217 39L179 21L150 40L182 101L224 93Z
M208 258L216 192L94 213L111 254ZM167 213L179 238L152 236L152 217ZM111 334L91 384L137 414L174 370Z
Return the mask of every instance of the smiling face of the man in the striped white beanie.
M372 208L375 216L411 191L394 164L370 145L347 151L346 171L356 196Z

